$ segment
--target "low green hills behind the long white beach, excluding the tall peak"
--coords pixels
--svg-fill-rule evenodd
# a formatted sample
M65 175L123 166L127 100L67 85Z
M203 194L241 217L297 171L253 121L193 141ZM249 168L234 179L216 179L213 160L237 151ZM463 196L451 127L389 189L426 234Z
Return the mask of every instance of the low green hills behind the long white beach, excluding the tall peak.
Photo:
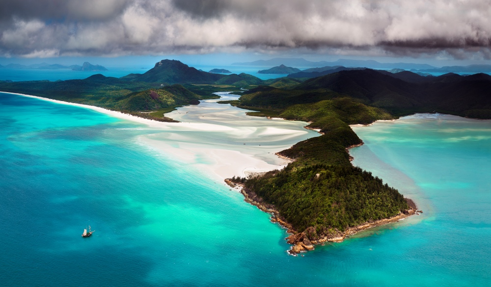
M209 98L195 94L180 84L161 86L103 75L55 82L0 82L0 90L95 105L159 121L171 121L164 117L164 112L184 104L199 104L198 100Z

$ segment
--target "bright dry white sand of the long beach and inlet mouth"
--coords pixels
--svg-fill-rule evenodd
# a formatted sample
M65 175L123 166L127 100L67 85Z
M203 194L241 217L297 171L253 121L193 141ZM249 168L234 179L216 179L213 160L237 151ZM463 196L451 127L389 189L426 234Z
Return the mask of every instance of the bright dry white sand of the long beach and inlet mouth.
M164 154L165 156L173 157L174 160L181 161L192 165L197 170L204 175L208 175L218 182L222 182L223 179L234 176L242 175L248 176L249 173L256 172L268 172L275 169L281 169L286 164L291 162L291 159L281 158L274 156L273 147L268 147L263 145L260 151L263 151L264 156L268 156L265 160L263 157L257 157L257 151L247 152L240 149L232 150L229 147L222 147L216 145L197 145L193 142L169 142L164 141L159 138L158 135L161 132L225 132L225 133L237 133L234 127L224 127L213 123L200 123L200 122L160 122L151 119L146 119L130 114L125 114L119 111L109 110L103 107L87 105L87 104L77 104L65 101L53 100L49 98L43 98L39 96L12 93L12 92L2 92L6 94L13 94L33 99L38 99L42 101L48 101L56 104L66 104L72 106L83 107L91 109L100 113L107 114L109 116L119 118L122 120L127 120L139 124L144 124L146 128L149 129L148 134L142 134L137 137L137 142L146 149L151 149L158 153ZM155 132L154 132L155 131ZM285 130L286 131L286 130ZM274 130L269 130L268 132L273 132ZM298 133L298 131L292 131ZM250 146L247 146L250 148ZM264 147L264 148L263 148ZM289 147L289 146L288 146ZM286 149L287 146L276 147L277 149ZM256 147L257 148L257 147ZM268 152L270 152L269 154ZM198 162L197 158L206 157L205 163Z

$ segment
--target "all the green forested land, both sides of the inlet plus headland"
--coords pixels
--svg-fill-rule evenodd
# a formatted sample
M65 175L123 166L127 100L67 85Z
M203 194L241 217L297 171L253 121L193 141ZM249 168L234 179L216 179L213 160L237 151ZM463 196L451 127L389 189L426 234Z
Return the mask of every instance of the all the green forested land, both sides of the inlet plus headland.
M491 77L486 74L424 77L364 68L331 72L317 78L261 80L247 74L207 73L179 61L162 60L144 74L0 81L0 91L95 105L159 121L173 121L164 113L177 106L217 98L214 92L242 91L238 101L220 103L254 110L247 112L251 116L309 122L306 128L320 130L322 135L278 152L293 160L285 169L227 180L241 184L246 201L272 212L273 221L289 229L288 242L294 244L292 252L298 253L416 212L414 203L396 189L351 164L347 149L362 141L350 125L415 112L491 118Z

